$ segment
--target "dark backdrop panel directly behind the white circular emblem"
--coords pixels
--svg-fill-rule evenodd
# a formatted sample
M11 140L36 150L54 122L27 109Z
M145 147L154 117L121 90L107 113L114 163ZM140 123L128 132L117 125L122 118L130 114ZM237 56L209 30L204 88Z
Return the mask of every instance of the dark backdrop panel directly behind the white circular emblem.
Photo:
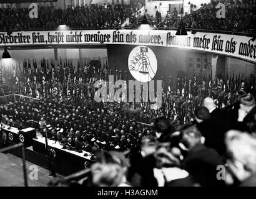
M135 80L130 74L128 67L129 53L135 47L136 45L107 45L107 57L112 75L115 75L116 70L122 70L123 72L126 70L127 80ZM163 78L164 89L167 89L169 76L171 75L172 90L175 90L177 72L179 70L184 71L186 68L185 53L187 52L170 47L148 47L155 53L155 57L157 58L157 72L153 80L162 80Z

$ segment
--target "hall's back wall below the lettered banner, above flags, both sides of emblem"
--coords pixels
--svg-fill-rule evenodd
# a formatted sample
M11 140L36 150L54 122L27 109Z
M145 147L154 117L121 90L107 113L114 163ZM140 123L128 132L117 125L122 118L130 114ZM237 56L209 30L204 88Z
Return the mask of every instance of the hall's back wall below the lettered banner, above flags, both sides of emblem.
M95 60L98 60L101 57L102 65L104 59L107 58L110 67L114 71L122 70L123 67L126 67L124 70L127 70L127 56L133 48L134 46L130 45L111 45L111 48L108 47L108 49L22 49L8 51L12 59L19 61L21 65L24 58L36 59L38 65L40 65L42 58L46 60L59 60L59 58L72 60L90 58L93 60L95 58ZM152 49L158 57L159 67L165 68L165 70L160 70L157 76L158 78L164 76L166 82L169 75L175 77L179 72L188 78L192 78L194 75L199 78L208 78L211 72L212 78L215 78L216 73L222 73L223 75L234 73L240 74L241 77L248 77L250 74L256 76L255 63L245 62L237 58L174 48L152 47ZM173 81L175 84L175 78L173 78Z

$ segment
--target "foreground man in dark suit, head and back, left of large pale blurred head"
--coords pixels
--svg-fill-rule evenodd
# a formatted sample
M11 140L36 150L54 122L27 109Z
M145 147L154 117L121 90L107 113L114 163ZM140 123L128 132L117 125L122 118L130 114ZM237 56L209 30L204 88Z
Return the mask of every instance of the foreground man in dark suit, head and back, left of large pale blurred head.
M182 166L201 186L223 185L222 180L217 180L217 166L223 165L223 162L216 150L202 144L201 137L200 131L193 125L180 129L180 144L187 150Z

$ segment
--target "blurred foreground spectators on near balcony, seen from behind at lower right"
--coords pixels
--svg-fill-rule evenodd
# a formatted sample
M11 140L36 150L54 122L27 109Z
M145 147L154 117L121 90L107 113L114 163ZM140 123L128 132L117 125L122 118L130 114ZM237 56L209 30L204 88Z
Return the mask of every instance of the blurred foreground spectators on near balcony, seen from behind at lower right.
M255 187L256 104L244 94L230 109L205 98L195 123L175 129L154 122L154 134L128 155L102 150L80 183L57 178L49 186Z

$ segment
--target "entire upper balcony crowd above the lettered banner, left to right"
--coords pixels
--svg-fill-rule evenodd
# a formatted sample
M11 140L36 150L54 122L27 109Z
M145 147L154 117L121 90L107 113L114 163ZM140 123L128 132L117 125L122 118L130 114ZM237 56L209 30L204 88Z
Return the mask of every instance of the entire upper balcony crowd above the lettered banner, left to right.
M225 18L217 19L218 3L225 4ZM167 11L162 16L159 9L150 16L145 10L145 16L155 29L177 28L180 25L180 16L183 17L188 29L225 30L234 32L255 33L255 1L221 0L202 4L200 9L190 14L177 11ZM68 5L66 9L57 9L52 6L39 7L38 19L31 19L27 8L1 8L0 27L4 31L19 30L56 30L59 25L65 24L71 29L101 29L121 28L136 29L142 21L143 15L137 15L142 5L135 4L91 4L74 7ZM184 13L183 13L184 12Z

